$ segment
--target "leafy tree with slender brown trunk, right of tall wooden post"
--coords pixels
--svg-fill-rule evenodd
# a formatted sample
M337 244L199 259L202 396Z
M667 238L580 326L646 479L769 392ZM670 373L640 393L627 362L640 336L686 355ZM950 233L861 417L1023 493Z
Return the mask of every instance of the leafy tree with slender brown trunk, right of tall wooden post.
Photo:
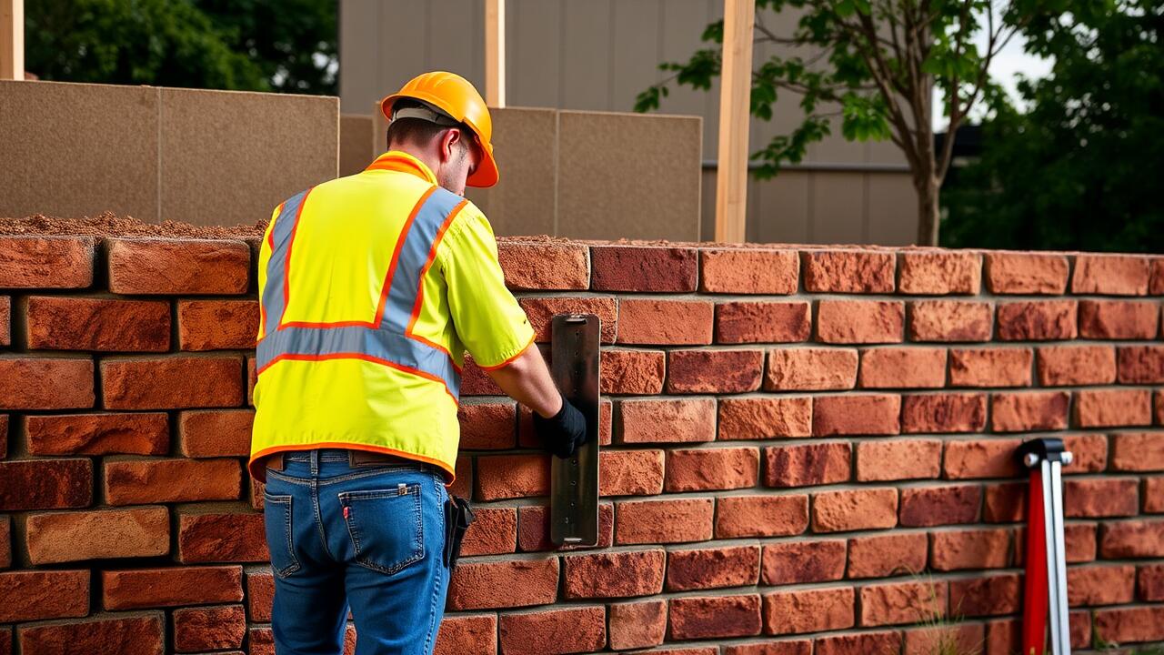
M932 91L953 134L989 87L991 61L1015 34L1029 12L1021 2L1041 0L757 0L754 43L778 43L800 54L775 55L752 71L751 113L772 119L780 92L800 96L803 122L752 154L755 174L776 175L785 162L799 162L809 143L831 132L840 118L850 140L890 139L909 164L918 199L920 244L937 245L939 189L950 168L953 140L935 150ZM790 34L764 23L765 10L801 12ZM986 42L979 51L974 40ZM719 75L723 21L708 26L687 62L665 62L673 73L639 94L636 111L659 107L668 85L711 89Z

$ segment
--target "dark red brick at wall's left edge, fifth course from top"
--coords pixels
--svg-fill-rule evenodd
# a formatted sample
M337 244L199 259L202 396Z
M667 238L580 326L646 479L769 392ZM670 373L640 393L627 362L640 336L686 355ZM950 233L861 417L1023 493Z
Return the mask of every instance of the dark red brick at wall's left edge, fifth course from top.
M92 502L90 459L0 462L0 512L88 507Z

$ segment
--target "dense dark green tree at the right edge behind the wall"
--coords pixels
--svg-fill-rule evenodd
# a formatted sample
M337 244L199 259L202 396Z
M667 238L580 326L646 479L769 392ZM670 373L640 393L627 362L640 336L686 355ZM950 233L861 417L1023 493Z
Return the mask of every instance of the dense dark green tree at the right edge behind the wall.
M1164 251L1164 6L1080 3L1027 28L1053 58L1024 110L992 99L982 156L944 193L951 246Z

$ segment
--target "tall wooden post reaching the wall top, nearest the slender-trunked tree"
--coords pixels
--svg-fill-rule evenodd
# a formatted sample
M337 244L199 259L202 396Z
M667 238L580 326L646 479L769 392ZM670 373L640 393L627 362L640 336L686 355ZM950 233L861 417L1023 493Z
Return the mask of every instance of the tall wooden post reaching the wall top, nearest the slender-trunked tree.
M719 167L716 171L716 241L741 244L747 217L747 124L752 97L752 28L755 0L724 0L723 72L719 77Z

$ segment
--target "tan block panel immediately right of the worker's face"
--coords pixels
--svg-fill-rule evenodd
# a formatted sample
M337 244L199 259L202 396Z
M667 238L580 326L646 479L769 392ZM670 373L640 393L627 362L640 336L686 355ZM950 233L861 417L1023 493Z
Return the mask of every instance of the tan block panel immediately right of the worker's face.
M554 234L558 206L558 112L492 108L494 155L501 179L467 196L498 235Z

